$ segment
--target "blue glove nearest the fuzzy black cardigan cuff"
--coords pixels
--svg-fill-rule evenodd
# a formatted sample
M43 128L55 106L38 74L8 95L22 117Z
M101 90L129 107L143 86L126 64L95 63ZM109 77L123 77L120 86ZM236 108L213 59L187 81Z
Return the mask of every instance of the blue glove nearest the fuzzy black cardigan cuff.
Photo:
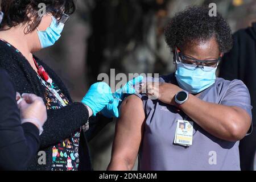
M90 107L95 116L106 105L114 101L110 86L105 82L97 82L90 86L88 92L82 99L82 104Z

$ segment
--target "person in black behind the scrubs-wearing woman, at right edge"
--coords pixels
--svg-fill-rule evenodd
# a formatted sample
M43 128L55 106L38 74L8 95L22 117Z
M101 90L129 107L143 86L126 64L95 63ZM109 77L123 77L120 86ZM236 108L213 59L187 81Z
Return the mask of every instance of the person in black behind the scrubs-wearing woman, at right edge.
M241 169L253 170L256 151L256 22L238 30L233 39L233 48L222 59L220 77L242 80L249 89L253 106L253 133L240 141L239 149Z

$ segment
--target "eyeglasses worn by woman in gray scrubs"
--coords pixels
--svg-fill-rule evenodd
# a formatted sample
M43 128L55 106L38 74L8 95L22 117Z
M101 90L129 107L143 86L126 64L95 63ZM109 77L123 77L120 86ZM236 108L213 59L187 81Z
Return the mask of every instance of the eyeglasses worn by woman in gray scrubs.
M218 66L218 63L220 63L221 61L221 56L218 57L218 59L214 59L214 60L198 60L198 59L195 59L194 57L184 55L183 53L181 53L181 51L178 51L177 48L175 48L175 55L176 55L177 61L183 64L189 64L189 65L200 65L205 67L216 68Z

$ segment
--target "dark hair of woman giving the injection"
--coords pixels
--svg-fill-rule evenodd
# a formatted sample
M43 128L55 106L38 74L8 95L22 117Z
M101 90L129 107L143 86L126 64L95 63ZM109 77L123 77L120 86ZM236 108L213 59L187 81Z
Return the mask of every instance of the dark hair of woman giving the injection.
M71 15L76 9L76 0L5 0L1 3L1 11L5 14L0 25L0 30L3 28L11 28L17 26L20 23L30 22L31 14L35 18L34 23L31 23L31 27L26 31L28 34L34 31L39 26L42 16L39 15L39 11L44 5L46 5L46 13L52 13L55 18L60 18L63 13Z

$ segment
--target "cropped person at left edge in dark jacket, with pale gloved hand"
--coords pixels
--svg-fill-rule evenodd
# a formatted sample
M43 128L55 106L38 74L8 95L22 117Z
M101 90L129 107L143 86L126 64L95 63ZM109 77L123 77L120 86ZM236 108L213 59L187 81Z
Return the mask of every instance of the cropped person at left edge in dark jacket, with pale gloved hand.
M0 24L2 16L0 12ZM19 100L10 76L3 69L0 84L0 170L24 170L38 151L39 134L47 119L46 106L34 94L23 94Z

